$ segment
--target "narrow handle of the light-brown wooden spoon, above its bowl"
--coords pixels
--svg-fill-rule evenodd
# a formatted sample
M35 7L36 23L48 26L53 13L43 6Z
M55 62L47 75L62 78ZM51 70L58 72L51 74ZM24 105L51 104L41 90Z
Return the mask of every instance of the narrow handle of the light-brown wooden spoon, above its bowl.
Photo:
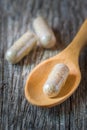
M71 42L71 44L65 49L68 51L69 55L72 54L75 57L79 57L79 53L81 49L86 45L87 43L87 20L83 23L81 26L79 32Z

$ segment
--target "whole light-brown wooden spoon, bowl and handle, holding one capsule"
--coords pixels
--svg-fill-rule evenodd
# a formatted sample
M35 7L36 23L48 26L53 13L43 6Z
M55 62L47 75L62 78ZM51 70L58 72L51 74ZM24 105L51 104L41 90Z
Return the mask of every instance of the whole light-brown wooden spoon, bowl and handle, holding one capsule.
M74 40L64 51L45 60L33 69L25 85L25 96L30 103L37 106L52 107L62 103L74 93L81 80L78 60L79 53L85 45L86 40L87 20L82 25ZM70 74L58 96L55 98L48 98L43 93L43 85L53 66L58 63L66 64L70 69Z

